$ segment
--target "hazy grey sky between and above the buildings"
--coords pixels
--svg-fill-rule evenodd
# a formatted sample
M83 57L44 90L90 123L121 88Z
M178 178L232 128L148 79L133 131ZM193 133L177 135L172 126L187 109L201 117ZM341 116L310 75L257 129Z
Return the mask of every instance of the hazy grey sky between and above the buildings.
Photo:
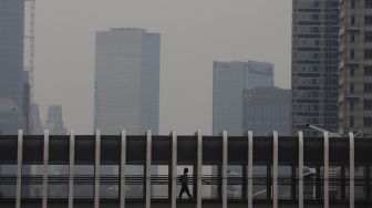
M61 104L69 129L93 131L94 34L162 34L161 134L211 133L213 61L269 61L290 87L290 0L38 0L34 100Z

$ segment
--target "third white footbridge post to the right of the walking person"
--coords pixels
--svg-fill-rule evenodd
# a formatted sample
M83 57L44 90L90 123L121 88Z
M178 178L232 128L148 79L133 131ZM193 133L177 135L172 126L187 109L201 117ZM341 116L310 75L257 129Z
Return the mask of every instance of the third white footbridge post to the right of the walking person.
M254 208L254 133L248 132L248 208Z

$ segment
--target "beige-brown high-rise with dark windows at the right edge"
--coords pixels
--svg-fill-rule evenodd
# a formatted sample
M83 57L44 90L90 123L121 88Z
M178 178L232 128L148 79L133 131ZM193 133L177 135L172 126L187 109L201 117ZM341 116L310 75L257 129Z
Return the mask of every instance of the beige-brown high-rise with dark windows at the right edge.
M372 136L372 1L340 1L339 134Z

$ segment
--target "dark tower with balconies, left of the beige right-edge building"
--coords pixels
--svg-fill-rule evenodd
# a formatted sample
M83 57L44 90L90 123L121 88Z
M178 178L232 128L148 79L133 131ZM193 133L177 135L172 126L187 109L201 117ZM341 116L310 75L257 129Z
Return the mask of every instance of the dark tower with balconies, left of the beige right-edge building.
M337 132L339 0L292 3L292 134Z

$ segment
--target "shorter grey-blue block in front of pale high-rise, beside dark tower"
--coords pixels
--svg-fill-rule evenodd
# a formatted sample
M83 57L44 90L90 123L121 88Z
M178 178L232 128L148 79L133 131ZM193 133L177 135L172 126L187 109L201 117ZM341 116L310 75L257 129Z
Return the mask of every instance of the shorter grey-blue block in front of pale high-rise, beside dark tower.
M268 136L272 129L291 135L291 91L278 87L255 87L244 92L244 132Z

